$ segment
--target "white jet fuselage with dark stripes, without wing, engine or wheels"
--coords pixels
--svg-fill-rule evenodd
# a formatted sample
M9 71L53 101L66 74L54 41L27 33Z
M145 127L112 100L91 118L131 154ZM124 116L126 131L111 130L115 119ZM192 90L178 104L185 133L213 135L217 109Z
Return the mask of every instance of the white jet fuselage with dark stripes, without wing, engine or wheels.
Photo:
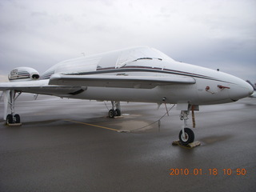
M168 103L191 103L209 105L234 102L250 95L251 86L240 78L218 70L210 70L183 62L176 62L158 50L147 47L119 50L60 62L47 70L42 78L51 74L111 75L135 77L189 77L193 84L170 83L141 89L139 84L132 88L86 86L80 94L59 95L68 98L110 100L124 102L157 102L166 98ZM79 84L81 86L81 84Z

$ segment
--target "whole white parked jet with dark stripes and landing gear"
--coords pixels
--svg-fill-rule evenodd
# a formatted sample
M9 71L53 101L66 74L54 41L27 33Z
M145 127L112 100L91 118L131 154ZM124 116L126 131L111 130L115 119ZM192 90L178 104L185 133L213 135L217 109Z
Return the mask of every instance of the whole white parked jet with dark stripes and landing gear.
M10 71L9 79L10 82L0 83L4 119L8 124L20 123L20 116L14 112L14 101L22 92L111 101L110 118L121 115L120 102L172 103L177 104L184 121L179 133L183 145L194 142L194 132L187 126L190 110L198 110L201 105L235 102L254 92L240 78L176 62L145 46L59 62L41 77L37 70L18 67ZM10 114L7 115L8 103Z

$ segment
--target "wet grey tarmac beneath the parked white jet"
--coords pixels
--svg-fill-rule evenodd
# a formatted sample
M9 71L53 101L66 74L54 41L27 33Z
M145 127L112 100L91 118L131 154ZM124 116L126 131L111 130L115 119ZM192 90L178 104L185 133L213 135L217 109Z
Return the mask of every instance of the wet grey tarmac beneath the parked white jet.
M121 105L21 95L22 126L0 120L0 191L256 191L256 99L201 106L193 149L171 145L179 111Z

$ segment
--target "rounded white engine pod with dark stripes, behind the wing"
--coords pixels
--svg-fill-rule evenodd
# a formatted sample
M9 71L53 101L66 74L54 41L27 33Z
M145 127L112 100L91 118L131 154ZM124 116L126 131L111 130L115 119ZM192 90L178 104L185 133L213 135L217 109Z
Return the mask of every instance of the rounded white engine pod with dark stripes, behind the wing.
M30 67L17 67L10 71L8 75L9 81L28 81L38 80L40 75L37 70Z

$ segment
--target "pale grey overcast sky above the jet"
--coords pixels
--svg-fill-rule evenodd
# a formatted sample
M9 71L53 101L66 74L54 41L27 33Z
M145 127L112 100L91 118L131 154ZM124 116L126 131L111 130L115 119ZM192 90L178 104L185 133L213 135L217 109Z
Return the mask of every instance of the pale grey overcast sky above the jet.
M0 0L0 80L130 46L256 82L256 0Z

